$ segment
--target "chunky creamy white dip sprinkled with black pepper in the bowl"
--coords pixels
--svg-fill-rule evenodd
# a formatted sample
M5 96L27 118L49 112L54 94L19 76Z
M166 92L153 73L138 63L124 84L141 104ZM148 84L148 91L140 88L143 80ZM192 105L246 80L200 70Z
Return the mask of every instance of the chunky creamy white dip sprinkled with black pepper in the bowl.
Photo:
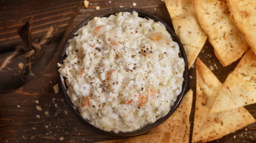
M104 131L135 131L165 116L185 63L160 22L136 11L95 17L69 40L59 72L83 118Z

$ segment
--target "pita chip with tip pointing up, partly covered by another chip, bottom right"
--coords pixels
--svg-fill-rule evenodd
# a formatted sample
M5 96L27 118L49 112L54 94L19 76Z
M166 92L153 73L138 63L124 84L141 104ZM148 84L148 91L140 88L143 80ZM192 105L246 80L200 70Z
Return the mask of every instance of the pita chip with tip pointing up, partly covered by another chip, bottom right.
M255 119L244 107L210 113L222 83L199 58L197 59L196 75L197 96L192 142L219 139L255 122Z

